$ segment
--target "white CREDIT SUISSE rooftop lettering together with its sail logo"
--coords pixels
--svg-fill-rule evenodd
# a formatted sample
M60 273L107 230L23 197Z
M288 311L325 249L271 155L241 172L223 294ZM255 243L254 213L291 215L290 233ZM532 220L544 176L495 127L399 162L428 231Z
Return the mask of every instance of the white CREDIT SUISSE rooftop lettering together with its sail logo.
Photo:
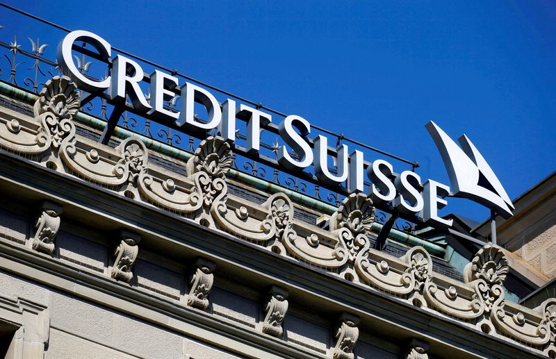
M72 49L75 42L85 42L97 50L95 56L108 62L110 75L96 79L82 74L74 63ZM92 94L103 93L112 103L125 103L131 100L131 106L138 112L158 119L161 123L171 124L183 131L209 131L218 128L232 147L236 141L236 119L247 123L246 153L257 156L260 149L261 128L272 122L272 115L252 108L233 99L222 103L204 87L193 83L179 83L179 79L158 69L145 76L142 67L121 54L113 58L111 44L102 37L88 31L72 31L58 46L57 59L63 73L72 78L76 85ZM140 83L149 81L150 98L147 100L140 88ZM165 108L165 101L181 97L181 108L174 111ZM195 103L206 109L206 118L195 115ZM346 144L341 144L336 151L336 171L328 166L329 140L324 135L317 135L309 140L311 125L303 117L286 116L277 126L277 132L284 144L278 148L277 162L289 172L301 172L313 166L316 177L329 186L346 183L347 192L363 192L364 177L371 182L368 195L374 203L389 203L396 211L406 217L420 217L432 226L451 226L451 219L439 217L438 210L443 208L447 196L466 197L482 203L489 208L496 208L501 215L510 216L512 202L493 174L484 158L473 144L464 137L464 151L446 135L436 124L427 124L437 146L439 147L455 192L450 187L431 179L422 181L413 171L395 174L391 163L385 160L365 162L363 153L358 150L350 152ZM295 153L292 156L291 151ZM513 208L513 207L512 207Z

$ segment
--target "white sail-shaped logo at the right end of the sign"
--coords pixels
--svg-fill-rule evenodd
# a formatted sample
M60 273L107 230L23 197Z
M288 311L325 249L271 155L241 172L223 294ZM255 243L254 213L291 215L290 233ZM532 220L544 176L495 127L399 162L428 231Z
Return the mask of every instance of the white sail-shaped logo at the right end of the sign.
M450 178L453 197L471 199L511 217L514 205L496 174L466 135L459 137L461 148L434 122L425 125L436 143Z

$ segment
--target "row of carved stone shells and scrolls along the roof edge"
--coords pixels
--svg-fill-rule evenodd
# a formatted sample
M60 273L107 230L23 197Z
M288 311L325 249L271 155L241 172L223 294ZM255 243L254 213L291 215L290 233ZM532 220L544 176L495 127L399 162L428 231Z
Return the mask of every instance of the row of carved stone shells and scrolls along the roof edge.
M183 172L172 173L149 162L147 148L139 138L129 137L112 148L76 135L78 109L74 85L69 78L56 76L40 92L34 118L0 117L0 147L401 301L459 318L468 326L489 328L542 351L555 350L556 301L534 310L505 301L502 285L509 267L500 247L487 244L477 252L466 268L465 283L446 279L434 274L432 258L423 247L413 247L402 258L394 258L370 246L374 208L363 194L346 197L325 230L295 219L295 206L284 193L272 194L262 204L229 194L232 152L222 137L206 138ZM55 218L46 212L44 218L50 222L47 216ZM46 232L39 238L49 244ZM122 265L126 269L123 261ZM195 278L210 274L199 270Z

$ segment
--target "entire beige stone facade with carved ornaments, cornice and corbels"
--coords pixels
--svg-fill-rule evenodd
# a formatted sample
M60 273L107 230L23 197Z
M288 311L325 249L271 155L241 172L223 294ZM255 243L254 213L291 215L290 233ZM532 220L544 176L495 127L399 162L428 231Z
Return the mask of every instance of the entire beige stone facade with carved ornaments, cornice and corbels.
M181 172L152 161L141 137L83 137L74 90L56 76L32 117L0 108L8 358L556 355L555 299L505 301L500 247L480 249L457 281L423 247L373 249L362 194L321 228L284 193L229 193L221 137L181 153Z

